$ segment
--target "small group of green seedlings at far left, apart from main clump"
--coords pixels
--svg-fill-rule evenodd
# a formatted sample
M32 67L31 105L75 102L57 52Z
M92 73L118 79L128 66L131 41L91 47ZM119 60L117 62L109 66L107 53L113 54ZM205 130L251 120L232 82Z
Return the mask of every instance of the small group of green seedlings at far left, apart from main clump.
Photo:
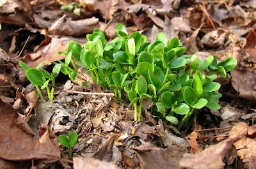
M44 99L40 89L42 90L46 89L48 94L48 99L53 100L55 78L60 73L61 64L54 65L54 67L52 68L52 73L49 73L48 71L41 68L43 63L44 62L40 62L38 66L36 66L36 68L29 68L29 66L26 63L24 63L23 61L19 61L20 66L26 71L26 77L32 84L35 85L36 91L38 92L40 98ZM50 81L51 81L51 87L49 86Z

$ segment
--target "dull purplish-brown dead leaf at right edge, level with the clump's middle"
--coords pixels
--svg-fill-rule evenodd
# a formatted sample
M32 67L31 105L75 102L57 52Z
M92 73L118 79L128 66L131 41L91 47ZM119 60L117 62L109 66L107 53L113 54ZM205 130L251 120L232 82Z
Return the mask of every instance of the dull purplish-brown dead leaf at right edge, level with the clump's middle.
M256 75L254 71L235 69L231 71L232 86L242 98L256 102Z

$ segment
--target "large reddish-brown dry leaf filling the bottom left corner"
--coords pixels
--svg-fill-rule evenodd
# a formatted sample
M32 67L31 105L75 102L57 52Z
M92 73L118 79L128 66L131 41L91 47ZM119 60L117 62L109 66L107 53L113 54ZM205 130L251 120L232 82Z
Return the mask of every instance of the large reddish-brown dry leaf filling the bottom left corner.
M11 105L0 100L0 158L6 160L44 159L57 161L60 159L60 149L51 140L51 132L45 129L40 138L25 133L15 124L17 112ZM56 138L55 138L56 140Z

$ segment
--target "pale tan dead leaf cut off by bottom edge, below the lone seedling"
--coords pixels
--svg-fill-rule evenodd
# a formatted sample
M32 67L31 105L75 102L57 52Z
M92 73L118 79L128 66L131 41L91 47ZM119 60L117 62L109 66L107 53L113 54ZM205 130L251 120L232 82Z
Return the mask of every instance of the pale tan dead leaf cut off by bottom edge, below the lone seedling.
M95 158L73 158L74 169L118 169L113 163Z

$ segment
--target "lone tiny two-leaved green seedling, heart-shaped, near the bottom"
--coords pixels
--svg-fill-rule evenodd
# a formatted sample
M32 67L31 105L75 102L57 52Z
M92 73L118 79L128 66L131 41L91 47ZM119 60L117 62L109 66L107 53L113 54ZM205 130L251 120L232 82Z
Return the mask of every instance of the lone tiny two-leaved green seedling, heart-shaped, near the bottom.
M61 145L68 148L68 159L72 160L72 147L74 147L74 145L77 143L77 133L72 132L68 135L68 137L65 135L60 135L58 140Z

